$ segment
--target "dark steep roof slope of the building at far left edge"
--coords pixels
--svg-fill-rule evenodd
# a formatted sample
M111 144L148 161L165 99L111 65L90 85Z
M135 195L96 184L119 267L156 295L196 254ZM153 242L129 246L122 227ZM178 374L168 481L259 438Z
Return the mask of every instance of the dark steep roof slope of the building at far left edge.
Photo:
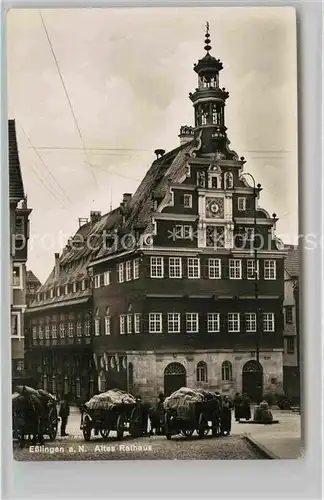
M15 120L8 120L8 142L9 142L9 198L19 201L24 198L24 185L20 170Z

